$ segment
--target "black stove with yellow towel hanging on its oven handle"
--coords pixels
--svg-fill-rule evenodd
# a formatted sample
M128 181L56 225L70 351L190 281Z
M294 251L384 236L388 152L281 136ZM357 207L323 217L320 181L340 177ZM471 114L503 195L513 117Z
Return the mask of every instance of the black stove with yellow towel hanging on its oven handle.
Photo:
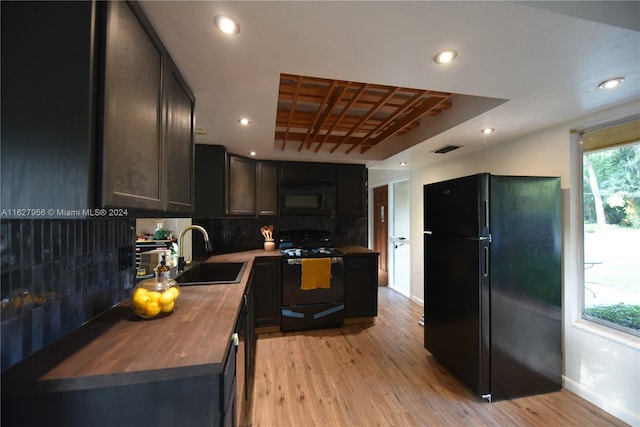
M327 230L283 230L282 252L283 331L342 326L344 323L344 254L333 247ZM316 260L316 261L314 261ZM322 260L318 264L317 260ZM305 286L312 268L329 277L328 287ZM309 269L305 272L305 269ZM308 276L307 276L308 277Z

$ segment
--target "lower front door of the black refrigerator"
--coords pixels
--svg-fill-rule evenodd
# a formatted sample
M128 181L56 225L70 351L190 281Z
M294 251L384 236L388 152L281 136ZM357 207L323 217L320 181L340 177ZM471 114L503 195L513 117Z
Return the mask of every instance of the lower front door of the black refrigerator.
M478 396L489 393L487 240L424 237L424 345Z

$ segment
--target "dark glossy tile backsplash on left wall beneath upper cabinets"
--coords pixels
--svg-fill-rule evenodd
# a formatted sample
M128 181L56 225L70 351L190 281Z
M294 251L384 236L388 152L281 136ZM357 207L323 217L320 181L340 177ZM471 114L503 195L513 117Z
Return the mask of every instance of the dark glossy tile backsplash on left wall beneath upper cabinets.
M0 222L2 370L127 298L135 220Z

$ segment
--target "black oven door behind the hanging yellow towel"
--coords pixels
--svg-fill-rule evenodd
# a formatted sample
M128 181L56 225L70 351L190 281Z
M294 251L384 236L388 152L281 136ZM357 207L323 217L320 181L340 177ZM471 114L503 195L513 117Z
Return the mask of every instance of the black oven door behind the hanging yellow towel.
M310 305L344 301L344 261L342 257L332 257L331 286L329 289L301 289L302 260L304 258L283 258L282 260L282 305Z

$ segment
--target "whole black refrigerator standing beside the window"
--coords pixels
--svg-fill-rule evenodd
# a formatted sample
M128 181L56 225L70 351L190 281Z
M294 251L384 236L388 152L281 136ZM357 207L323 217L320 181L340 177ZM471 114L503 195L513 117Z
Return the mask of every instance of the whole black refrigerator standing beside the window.
M424 186L424 346L479 398L562 386L558 177Z

